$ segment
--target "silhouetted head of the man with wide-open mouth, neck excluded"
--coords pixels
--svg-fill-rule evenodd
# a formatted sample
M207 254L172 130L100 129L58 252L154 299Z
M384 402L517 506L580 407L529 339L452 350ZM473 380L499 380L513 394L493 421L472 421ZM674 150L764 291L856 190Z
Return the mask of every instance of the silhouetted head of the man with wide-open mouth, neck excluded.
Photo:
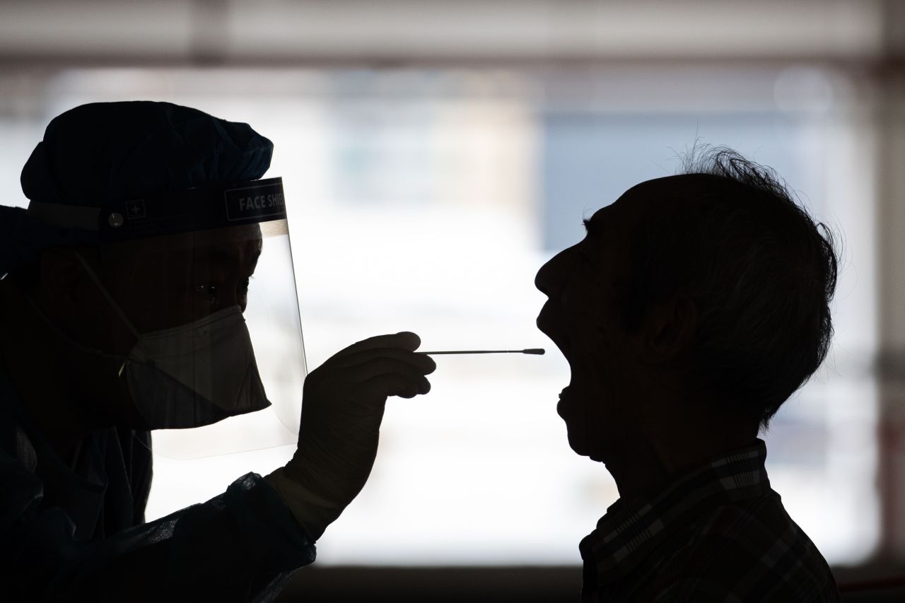
M538 328L571 369L557 410L580 455L691 426L756 434L827 353L828 229L729 149L685 171L595 212L538 271Z

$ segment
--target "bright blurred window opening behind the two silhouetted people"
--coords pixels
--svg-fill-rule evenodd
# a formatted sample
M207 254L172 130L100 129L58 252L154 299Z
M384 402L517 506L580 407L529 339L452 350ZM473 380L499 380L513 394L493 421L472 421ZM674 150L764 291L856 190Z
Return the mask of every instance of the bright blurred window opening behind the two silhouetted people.
M872 164L842 76L98 70L63 72L46 90L43 110L0 118L7 200L21 199L18 169L43 125L82 102L174 101L274 141L310 367L397 330L431 349L548 349L439 357L428 397L392 400L374 473L319 543L321 563L578 563L577 542L617 493L567 445L555 406L568 369L534 326L534 273L582 236L583 217L674 173L695 139L771 165L844 228L846 254L834 353L776 417L768 470L827 560L872 550L875 396L860 362L875 343ZM289 455L157 459L148 519Z

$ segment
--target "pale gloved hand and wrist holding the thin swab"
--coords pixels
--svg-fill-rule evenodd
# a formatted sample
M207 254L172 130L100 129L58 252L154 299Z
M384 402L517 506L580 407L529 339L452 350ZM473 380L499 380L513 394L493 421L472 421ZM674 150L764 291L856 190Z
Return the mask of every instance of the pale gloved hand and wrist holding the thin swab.
M299 446L264 479L311 541L357 496L377 452L386 397L426 394L433 359L410 332L380 335L338 352L305 379Z

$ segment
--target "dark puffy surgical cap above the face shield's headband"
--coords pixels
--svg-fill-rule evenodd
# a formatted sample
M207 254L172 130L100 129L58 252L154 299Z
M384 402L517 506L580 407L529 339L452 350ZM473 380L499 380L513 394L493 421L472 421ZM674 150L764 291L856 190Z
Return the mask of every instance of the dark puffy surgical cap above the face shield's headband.
M22 170L46 203L98 206L263 176L273 144L248 124L169 102L98 102L55 117Z

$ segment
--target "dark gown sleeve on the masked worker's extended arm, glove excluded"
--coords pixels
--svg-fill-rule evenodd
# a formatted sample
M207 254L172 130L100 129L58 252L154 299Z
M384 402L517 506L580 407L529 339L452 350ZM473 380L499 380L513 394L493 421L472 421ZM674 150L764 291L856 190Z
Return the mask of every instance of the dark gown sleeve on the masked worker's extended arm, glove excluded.
M314 560L313 544L256 474L155 522L80 542L42 483L0 452L0 583L11 601L253 601ZM274 583L276 582L276 583Z

